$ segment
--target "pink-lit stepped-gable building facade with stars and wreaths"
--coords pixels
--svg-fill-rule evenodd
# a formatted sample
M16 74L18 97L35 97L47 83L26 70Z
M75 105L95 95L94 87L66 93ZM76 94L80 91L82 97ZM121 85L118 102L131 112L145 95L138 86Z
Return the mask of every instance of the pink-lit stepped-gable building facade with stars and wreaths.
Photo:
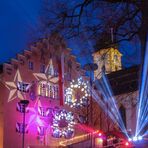
M88 78L60 36L4 63L0 76L0 147L92 145L83 125L88 123ZM22 100L29 104L24 107Z

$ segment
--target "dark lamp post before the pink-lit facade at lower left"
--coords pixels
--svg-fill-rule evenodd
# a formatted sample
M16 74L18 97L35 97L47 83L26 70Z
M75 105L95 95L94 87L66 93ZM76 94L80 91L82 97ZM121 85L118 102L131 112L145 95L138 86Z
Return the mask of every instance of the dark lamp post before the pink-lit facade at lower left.
M20 104L22 106L22 112L23 112L23 136L22 136L22 148L24 148L24 141L25 141L25 113L26 113L26 107L29 104L28 100L21 100Z

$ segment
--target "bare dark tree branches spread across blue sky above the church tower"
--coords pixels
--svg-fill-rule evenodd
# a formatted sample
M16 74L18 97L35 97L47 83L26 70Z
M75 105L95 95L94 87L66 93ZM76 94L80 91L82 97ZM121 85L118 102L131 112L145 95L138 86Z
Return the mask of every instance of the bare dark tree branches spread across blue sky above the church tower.
M42 27L45 33L57 31L65 38L90 40L97 50L136 37L144 57L147 8L146 0L45 0Z

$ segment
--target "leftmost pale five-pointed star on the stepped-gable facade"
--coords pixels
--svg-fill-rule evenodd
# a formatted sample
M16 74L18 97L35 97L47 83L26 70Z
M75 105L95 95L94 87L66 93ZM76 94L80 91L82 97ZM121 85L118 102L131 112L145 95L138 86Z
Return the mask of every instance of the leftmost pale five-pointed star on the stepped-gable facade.
M19 70L16 71L16 74L12 82L11 81L5 82L6 87L10 91L8 96L8 102L13 101L16 98L19 98L21 100L24 99L22 92L17 89L18 82L22 82Z

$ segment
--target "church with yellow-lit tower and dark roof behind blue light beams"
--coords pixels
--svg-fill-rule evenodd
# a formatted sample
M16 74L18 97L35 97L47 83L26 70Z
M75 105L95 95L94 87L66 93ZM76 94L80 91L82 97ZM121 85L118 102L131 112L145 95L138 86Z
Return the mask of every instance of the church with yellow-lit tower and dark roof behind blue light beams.
M118 114L115 110L117 107L127 134L134 135L139 95L139 67L122 69L121 56L122 54L116 48L101 49L93 54L94 63L98 65L98 69L94 72L95 87L99 92L98 96L101 96L100 100L102 100L102 102L98 101L100 117L97 118L94 115L94 120L98 121L96 124L103 131L120 131L121 129L116 124L117 121L113 122L114 114L116 116ZM104 74L105 76L103 76ZM113 98L115 105L111 98ZM101 103L104 103L106 108L103 109ZM95 104L97 103L95 102L94 106ZM105 110L107 110L106 113ZM110 113L111 115L109 115ZM112 116L114 116L113 119Z

